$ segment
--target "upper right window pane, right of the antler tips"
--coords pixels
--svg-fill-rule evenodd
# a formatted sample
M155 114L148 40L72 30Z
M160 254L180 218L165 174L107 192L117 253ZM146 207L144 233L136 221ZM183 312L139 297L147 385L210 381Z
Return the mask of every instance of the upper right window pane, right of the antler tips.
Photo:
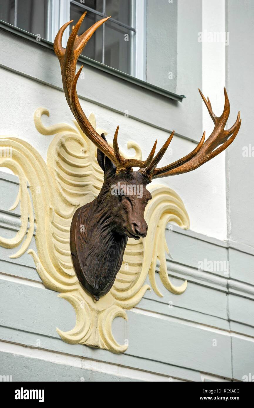
M106 14L131 26L131 0L106 0Z

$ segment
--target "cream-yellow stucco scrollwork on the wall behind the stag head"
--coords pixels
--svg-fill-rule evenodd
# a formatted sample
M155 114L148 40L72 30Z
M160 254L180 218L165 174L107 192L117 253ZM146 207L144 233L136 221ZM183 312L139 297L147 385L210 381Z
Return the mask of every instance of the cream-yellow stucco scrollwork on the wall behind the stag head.
M55 135L47 153L47 164L30 144L16 137L0 137L0 148L9 146L12 157L0 157L0 166L8 167L19 178L18 196L9 211L20 203L20 230L15 237L0 237L5 248L20 248L10 257L20 257L26 251L33 257L36 270L45 287L59 292L76 311L76 325L63 332L57 328L60 337L71 344L86 344L123 353L128 345L120 345L114 339L111 325L115 317L127 320L125 309L136 306L149 289L145 284L147 275L152 289L163 296L156 284L156 264L162 284L172 293L181 294L187 281L174 286L168 277L165 251L165 228L168 222L175 222L181 228L189 228L189 217L185 206L167 186L150 184L153 199L145 210L149 226L147 237L134 241L129 239L123 265L117 274L114 286L99 302L85 292L76 277L69 247L69 229L72 216L79 206L90 202L98 195L103 182L103 173L96 160L94 144L74 126L60 123L45 126L42 115L49 116L45 108L34 113L36 129L42 135ZM95 116L89 121L98 133ZM136 142L128 142L128 149L134 149L135 157L141 159L141 150ZM29 183L29 190L27 188ZM29 249L36 220L36 248Z

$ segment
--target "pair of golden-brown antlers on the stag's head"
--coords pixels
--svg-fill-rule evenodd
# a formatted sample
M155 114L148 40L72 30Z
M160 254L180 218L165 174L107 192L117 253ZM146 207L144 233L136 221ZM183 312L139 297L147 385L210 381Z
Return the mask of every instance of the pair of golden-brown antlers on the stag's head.
M112 162L115 163L117 173L126 170L132 171L132 167L140 167L139 171L146 175L149 180L157 177L166 177L181 173L187 173L188 171L197 169L197 167L211 160L213 157L225 150L233 142L241 126L240 112L237 115L235 124L230 129L225 130L224 128L229 117L230 106L227 92L224 88L225 105L223 113L220 117L214 115L209 98L207 98L206 100L203 93L199 90L201 97L205 102L209 114L214 122L214 130L206 141L204 132L201 141L198 143L196 148L191 153L189 153L185 157L182 157L176 162L169 164L168 166L156 168L156 165L163 157L165 151L167 150L167 147L169 146L169 143L172 140L174 131L171 133L167 142L165 142L163 147L154 157L157 143L156 140L151 153L147 157L147 160L144 161L136 159L125 159L120 155L117 142L119 126L117 127L114 135L112 149L109 144L107 144L107 142L96 132L96 130L87 119L85 113L82 111L76 91L76 84L83 68L82 66L79 69L78 73L75 75L78 57L94 32L109 19L109 17L103 18L102 20L92 25L87 31L85 31L85 33L79 36L78 30L85 15L86 12L80 17L77 24L72 27L72 33L69 36L66 49L62 47L62 35L65 29L69 26L69 24L71 24L73 20L65 23L60 28L54 41L54 50L60 61L62 84L65 91L65 97L72 113L74 114L74 117L76 118L80 128L87 135L87 137L98 147L98 149L102 151L102 153L104 153L107 157L109 157L109 159L112 160Z

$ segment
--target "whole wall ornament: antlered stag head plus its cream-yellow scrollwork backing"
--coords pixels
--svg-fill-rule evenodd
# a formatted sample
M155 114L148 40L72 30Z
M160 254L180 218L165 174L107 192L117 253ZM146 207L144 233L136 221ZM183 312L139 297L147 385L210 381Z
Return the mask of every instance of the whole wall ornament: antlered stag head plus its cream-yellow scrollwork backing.
M179 287L170 282L165 259L165 249L168 252L165 227L168 222L175 222L189 228L187 212L173 190L149 185L149 182L157 177L192 171L218 155L236 137L241 120L238 113L235 124L225 130L229 116L226 91L220 117L214 115L209 99L201 93L215 125L206 141L204 133L191 153L162 168L156 166L174 132L154 156L155 142L147 160L142 160L139 146L129 142L127 147L133 148L136 154L126 159L118 148L118 128L113 145L108 144L103 136L105 131L96 127L94 115L87 119L78 101L76 82L80 71L75 75L78 56L94 31L107 20L96 22L79 37L77 33L84 16L74 26L66 50L61 38L70 22L60 29L54 43L76 127L65 123L46 127L41 115L49 116L49 111L36 110L36 129L43 135L55 135L49 146L47 164L27 142L16 137L0 137L0 148L12 149L11 158L0 157L0 166L11 169L20 181L18 197L10 211L19 203L21 211L20 231L10 239L0 237L0 244L10 249L19 247L12 258L28 250L45 287L60 292L59 296L76 310L76 326L67 333L57 329L63 340L122 353L128 344L116 342L111 324L118 316L127 320L125 309L136 306L150 289L145 284L147 275L158 296L163 294L156 279L174 294L179 295L187 288L187 281ZM133 166L140 170L132 171ZM111 194L115 185L116 191ZM121 189L122 185L142 186L142 197L118 194L118 186ZM33 211L37 252L29 249L35 227ZM99 296L102 297L96 302Z

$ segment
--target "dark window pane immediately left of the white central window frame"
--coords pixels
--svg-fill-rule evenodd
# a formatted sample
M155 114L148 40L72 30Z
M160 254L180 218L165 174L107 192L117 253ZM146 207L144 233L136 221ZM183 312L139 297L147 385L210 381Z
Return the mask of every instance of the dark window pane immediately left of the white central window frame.
M17 27L47 38L47 0L18 0Z

